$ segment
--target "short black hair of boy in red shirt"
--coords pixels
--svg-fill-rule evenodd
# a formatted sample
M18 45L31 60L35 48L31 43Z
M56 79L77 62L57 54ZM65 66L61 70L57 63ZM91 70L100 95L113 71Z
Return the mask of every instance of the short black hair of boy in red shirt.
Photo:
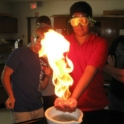
M92 18L92 8L87 2L84 2L84 1L75 2L70 7L70 16L72 17L72 15L75 12L80 12L80 13L86 14L86 17Z

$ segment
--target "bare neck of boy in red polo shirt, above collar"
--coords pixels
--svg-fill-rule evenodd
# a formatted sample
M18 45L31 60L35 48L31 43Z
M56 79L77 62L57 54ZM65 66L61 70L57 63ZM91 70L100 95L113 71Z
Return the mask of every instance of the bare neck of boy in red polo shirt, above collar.
M89 36L90 36L90 33L88 33L85 36L75 35L75 39L77 40L77 42L78 42L79 45L82 45L82 44L84 44L87 41L87 39L89 38Z

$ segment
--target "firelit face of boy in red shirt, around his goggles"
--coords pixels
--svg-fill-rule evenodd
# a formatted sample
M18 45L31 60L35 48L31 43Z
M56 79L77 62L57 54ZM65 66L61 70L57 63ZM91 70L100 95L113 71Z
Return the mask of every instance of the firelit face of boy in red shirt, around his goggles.
M76 18L81 18L81 17L86 17L84 14L82 13L74 13L73 17ZM86 21L88 21L88 19L82 19L82 20L78 20L80 21L84 21L86 23ZM72 26L73 27L73 31L75 33L75 35L79 36L79 37L83 37L85 35L87 35L90 32L90 26L89 26L89 22L87 25L83 26L81 25L81 23L76 24L76 26Z

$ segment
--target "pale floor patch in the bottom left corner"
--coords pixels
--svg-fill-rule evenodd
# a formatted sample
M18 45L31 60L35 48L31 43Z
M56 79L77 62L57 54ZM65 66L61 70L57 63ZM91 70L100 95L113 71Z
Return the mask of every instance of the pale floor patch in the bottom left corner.
M0 108L0 124L11 124L10 113L6 108Z

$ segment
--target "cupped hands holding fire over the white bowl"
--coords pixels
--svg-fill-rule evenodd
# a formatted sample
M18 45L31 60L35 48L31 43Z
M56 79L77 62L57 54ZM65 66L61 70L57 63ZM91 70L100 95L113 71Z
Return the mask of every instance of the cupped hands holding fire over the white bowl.
M63 112L73 112L77 108L77 100L72 97L67 100L63 100L62 98L57 98L54 102L54 106L56 109Z

